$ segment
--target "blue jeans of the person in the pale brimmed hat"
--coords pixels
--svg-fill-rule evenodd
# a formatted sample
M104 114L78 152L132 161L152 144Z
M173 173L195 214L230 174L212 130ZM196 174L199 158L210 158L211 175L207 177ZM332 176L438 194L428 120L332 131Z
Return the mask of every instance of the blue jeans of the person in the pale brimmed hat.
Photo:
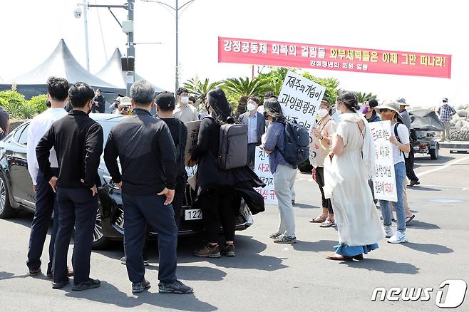
M397 229L399 232L406 231L406 211L404 210L403 194L404 182L406 180L406 163L398 162L394 164L394 174L396 175L397 202L393 204L396 211ZM383 215L383 225L388 226L392 223L391 204L387 200L379 200L381 205L381 214Z

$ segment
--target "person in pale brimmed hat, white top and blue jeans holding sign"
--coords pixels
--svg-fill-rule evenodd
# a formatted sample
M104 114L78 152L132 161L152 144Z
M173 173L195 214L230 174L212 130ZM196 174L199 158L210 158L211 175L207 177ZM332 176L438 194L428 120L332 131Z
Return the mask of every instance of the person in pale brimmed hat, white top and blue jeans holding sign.
M393 147L394 172L396 177L397 202L393 203L396 211L397 232L393 233L391 228L391 202L379 200L381 214L383 214L383 226L386 232L388 243L401 244L407 241L406 235L406 212L404 210L404 183L406 181L406 163L404 155L411 151L409 144L409 134L406 125L398 120L402 120L399 113L399 103L393 100L384 101L383 104L376 106L376 111L381 115L382 120L391 121L391 137L389 141Z

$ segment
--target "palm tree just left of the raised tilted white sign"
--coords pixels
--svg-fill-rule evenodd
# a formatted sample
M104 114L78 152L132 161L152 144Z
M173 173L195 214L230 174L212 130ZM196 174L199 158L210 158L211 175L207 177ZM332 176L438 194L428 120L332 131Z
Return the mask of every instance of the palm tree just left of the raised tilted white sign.
M225 80L222 88L225 89L229 95L234 95L238 98L237 111L234 114L237 117L246 111L247 99L249 97L262 97L264 93L270 90L271 85L268 80L259 77L252 80L249 80L247 77L239 77Z

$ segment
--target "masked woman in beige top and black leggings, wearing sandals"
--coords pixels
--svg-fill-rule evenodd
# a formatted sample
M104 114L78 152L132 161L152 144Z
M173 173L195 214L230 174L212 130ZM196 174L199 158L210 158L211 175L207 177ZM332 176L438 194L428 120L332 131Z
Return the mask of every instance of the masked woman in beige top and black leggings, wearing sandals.
M322 199L322 213L318 217L311 219L311 223L321 223L319 227L334 227L334 210L331 199L324 197L324 160L330 152L332 135L336 132L337 124L331 118L331 103L322 100L318 111L319 123L316 128L311 128L312 138L309 146L309 160L313 166L313 179L319 185Z

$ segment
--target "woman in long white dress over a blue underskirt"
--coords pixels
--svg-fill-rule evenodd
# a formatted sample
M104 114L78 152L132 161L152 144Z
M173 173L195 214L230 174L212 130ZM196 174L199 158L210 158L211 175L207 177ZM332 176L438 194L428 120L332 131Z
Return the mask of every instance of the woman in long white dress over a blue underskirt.
M326 198L331 198L339 232L339 245L327 259L361 260L384 239L378 210L368 179L375 172L374 143L368 123L356 113L354 93L344 91L336 101L340 115L331 157L324 162Z

